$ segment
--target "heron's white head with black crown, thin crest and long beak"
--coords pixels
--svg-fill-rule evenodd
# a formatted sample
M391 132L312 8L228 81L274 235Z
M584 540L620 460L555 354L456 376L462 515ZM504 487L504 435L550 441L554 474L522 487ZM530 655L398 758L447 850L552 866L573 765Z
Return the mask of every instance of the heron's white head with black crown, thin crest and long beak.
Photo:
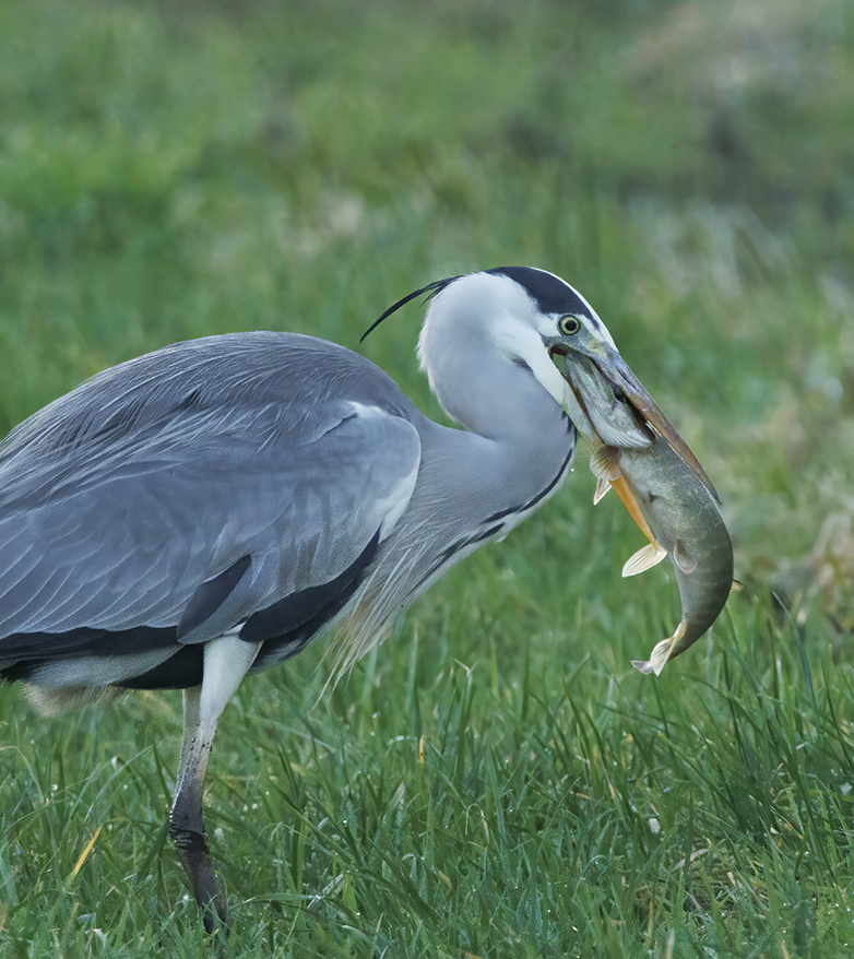
M491 368L490 359L501 357L545 388L594 446L641 449L657 435L713 490L593 307L559 276L531 267L452 276L416 291L381 319L424 293L432 301L418 355L439 400L455 418L466 422L453 407L475 409L475 396L486 392L486 377L493 402L512 402L510 366L506 364L507 396L501 394L503 383L491 383L501 374Z

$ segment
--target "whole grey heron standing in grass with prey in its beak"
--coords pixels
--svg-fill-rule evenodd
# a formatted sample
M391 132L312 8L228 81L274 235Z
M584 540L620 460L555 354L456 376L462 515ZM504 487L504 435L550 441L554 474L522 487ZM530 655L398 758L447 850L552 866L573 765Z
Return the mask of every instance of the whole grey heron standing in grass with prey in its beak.
M381 319L418 295L422 367L462 428L425 417L355 352L256 332L107 369L0 447L0 675L56 697L183 690L170 832L209 931L226 903L202 793L248 673L333 626L349 665L555 495L581 424L618 448L654 431L699 469L565 281L453 276ZM591 377L607 389L585 393Z

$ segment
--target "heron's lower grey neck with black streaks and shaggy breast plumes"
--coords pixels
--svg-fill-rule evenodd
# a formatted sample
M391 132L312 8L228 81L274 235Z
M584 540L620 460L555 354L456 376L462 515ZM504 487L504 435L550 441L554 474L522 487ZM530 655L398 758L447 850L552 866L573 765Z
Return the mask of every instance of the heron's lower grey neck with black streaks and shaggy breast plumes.
M500 538L560 488L576 449L574 426L545 390L522 399L507 392L495 395L494 415L466 416L470 429L414 414L418 480L359 593L345 663L384 636L449 567Z

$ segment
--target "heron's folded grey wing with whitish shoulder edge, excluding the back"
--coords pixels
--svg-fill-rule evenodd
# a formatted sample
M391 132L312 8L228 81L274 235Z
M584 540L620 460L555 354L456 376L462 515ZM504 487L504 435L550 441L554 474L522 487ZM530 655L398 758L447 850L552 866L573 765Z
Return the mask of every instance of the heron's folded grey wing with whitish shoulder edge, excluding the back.
M346 401L292 404L289 416L188 412L76 465L25 462L23 483L12 458L0 663L38 655L38 642L61 655L62 637L81 630L174 628L181 643L203 642L351 568L405 509L418 433Z

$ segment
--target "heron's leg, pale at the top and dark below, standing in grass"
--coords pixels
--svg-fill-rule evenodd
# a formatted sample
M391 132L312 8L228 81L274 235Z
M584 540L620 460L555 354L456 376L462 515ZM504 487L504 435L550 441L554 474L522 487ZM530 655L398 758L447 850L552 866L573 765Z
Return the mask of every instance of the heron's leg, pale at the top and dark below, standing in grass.
M260 648L260 642L245 642L234 635L205 643L202 685L185 694L181 765L169 832L192 884L195 901L204 910L204 927L209 933L214 932L217 920L225 926L227 911L204 834L204 777L220 715Z

